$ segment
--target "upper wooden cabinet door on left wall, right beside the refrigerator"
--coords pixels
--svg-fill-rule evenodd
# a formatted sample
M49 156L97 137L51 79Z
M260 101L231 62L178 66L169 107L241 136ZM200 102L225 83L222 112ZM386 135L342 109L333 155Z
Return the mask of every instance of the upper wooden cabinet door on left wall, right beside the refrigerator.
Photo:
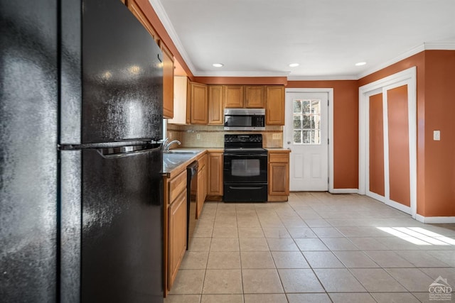
M160 41L163 51L163 117L173 118L173 55Z

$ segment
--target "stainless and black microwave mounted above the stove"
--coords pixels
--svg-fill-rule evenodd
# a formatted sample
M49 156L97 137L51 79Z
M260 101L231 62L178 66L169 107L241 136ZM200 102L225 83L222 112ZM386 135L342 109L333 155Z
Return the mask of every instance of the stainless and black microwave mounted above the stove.
M225 131L264 131L265 109L225 109Z

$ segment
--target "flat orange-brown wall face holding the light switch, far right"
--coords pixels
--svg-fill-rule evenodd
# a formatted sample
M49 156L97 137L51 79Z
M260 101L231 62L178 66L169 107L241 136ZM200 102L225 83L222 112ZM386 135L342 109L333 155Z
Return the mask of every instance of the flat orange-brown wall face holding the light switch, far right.
M454 50L425 52L424 85L424 215L455 216ZM441 141L433 141L434 130Z

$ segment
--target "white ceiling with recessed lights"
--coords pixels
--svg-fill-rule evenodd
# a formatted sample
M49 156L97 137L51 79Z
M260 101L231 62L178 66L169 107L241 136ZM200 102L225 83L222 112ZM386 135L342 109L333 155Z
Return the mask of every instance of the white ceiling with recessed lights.
M425 44L455 49L455 0L149 1L195 76L358 79Z

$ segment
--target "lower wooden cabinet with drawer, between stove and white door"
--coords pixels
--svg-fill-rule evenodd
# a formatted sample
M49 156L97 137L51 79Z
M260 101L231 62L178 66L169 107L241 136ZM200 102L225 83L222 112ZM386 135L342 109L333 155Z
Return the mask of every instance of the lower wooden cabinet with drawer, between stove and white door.
M268 201L287 201L289 196L289 150L269 150Z

